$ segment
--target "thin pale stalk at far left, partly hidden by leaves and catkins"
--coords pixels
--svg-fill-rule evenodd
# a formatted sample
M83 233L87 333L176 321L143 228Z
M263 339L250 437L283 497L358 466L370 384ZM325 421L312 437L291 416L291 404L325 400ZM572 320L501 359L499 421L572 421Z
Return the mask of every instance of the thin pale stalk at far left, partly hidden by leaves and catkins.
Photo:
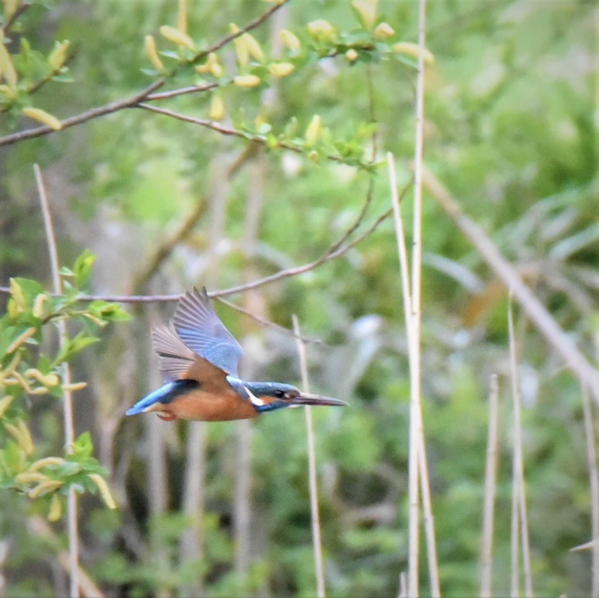
M48 197L46 195L46 187L41 175L40 166L34 164L35 182L37 183L38 195L40 196L41 211L44 215L44 227L46 229L46 240L48 243L48 254L50 257L50 269L52 271L52 283L55 293L61 292L58 251L56 250L56 239L54 229L52 227L52 216L50 215L50 207L48 205ZM66 333L66 321L61 318L58 321L59 330L59 346L62 350L67 342L68 336ZM63 386L71 384L71 369L68 362L62 365L62 383ZM73 428L73 412L72 412L72 394L70 390L62 391L62 410L65 424L65 450L67 453L72 453L73 442L75 441L75 433ZM71 598L79 596L79 547L77 537L77 497L75 496L75 488L69 487L67 499L67 514L68 521L68 536L69 536L69 567L71 569Z

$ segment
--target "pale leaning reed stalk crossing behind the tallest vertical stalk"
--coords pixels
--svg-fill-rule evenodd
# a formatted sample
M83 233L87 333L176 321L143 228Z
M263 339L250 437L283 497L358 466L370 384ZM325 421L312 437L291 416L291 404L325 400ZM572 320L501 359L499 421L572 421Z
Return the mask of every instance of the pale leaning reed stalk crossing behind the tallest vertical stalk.
M409 347L409 361L410 361L410 381L413 380L415 375L415 362L414 355L419 353L419 347L416 345L416 333L415 333L415 321L413 315L413 300L412 294L410 293L410 274L408 257L406 250L406 237L404 235L403 221L401 220L401 208L400 198L397 192L397 177L395 176L395 161L393 154L388 152L387 154L387 165L389 169L389 186L391 187L391 199L393 204L393 214L395 222L395 235L397 237L397 249L400 256L400 271L401 271L401 286L403 289L403 301L404 301L404 316L406 318L406 335L408 339ZM418 399L420 395L418 394ZM418 523L418 478L420 478L420 491L422 492L422 507L424 514L425 532L426 532L426 548L428 554L428 569L429 578L431 585L431 595L438 597L441 595L438 564L437 564L437 547L435 544L435 529L434 519L432 517L432 503L431 503L431 490L428 479L428 465L426 464L426 448L424 441L424 431L422 426L422 408L420 401L415 405L415 411L412 411L413 402L410 401L410 432L412 431L412 423L415 424L416 432L415 438L418 439L416 447L415 458L418 470L416 472L415 481L412 483L416 484L416 488L412 488L416 494L416 500L410 499L410 517L413 517L413 509L416 511L416 523ZM413 420L412 420L413 416ZM410 442L410 448L412 444ZM410 453L412 456L412 453ZM418 475L419 473L419 475ZM418 526L416 526L416 551L418 551ZM416 554L418 562L418 554ZM409 579L409 578L408 578Z

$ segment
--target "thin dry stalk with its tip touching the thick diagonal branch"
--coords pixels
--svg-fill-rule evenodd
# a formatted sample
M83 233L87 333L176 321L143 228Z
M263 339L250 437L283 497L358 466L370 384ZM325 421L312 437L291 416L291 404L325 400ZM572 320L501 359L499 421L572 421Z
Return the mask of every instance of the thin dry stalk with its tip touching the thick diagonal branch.
M522 457L522 400L518 377L518 362L516 360L516 339L514 335L514 318L512 310L512 293L507 306L507 327L510 336L510 378L512 378L512 395L514 400L514 487L516 505L519 508L519 519L522 539L522 560L524 561L524 585L527 598L533 598L533 577L530 567L530 541L528 539L528 517L526 509L526 492L524 487L524 459ZM512 539L513 542L513 539ZM512 546L513 550L513 546ZM514 588L512 588L513 590Z

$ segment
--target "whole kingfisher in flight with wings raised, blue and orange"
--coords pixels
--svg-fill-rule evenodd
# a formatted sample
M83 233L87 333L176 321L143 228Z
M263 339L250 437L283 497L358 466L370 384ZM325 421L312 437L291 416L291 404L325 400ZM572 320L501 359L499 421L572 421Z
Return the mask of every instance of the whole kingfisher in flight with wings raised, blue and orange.
M127 415L150 412L165 421L226 421L299 405L347 405L302 393L291 384L241 380L241 345L219 320L205 287L193 287L179 299L168 326L153 327L152 346L164 385L135 403Z

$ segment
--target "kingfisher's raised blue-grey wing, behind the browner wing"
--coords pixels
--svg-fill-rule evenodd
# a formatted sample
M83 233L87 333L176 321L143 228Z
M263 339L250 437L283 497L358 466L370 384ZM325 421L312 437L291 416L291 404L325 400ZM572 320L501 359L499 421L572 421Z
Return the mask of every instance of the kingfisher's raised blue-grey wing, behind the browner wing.
M179 300L173 317L177 336L190 350L226 374L237 377L241 345L219 320L206 288L193 287Z

